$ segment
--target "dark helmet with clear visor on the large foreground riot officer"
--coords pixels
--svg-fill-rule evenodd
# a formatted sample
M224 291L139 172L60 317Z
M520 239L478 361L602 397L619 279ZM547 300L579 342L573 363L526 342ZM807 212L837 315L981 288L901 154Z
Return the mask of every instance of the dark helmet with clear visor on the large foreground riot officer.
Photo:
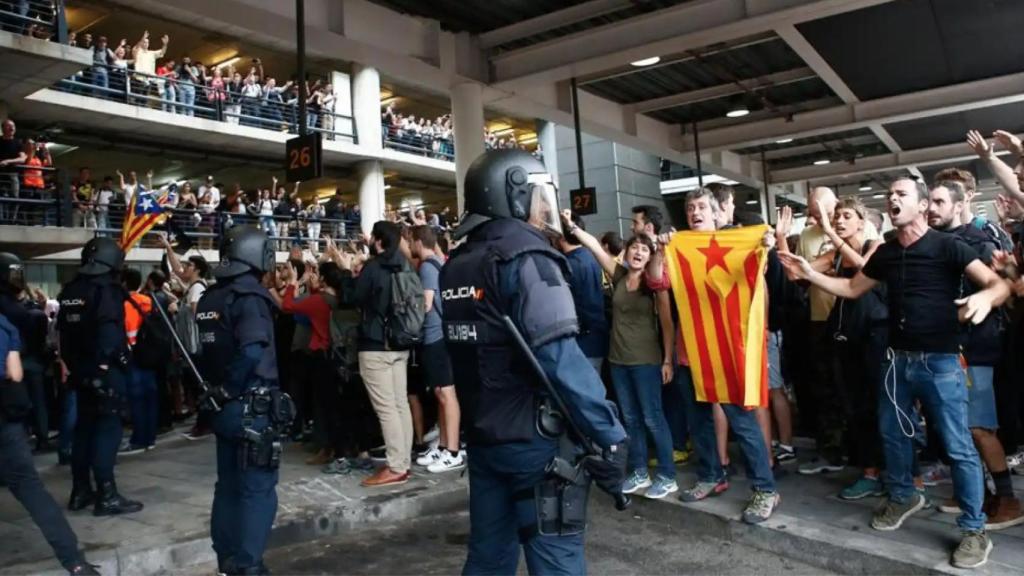
M496 218L524 220L561 234L558 195L544 163L522 150L493 150L466 171L466 213L459 238Z

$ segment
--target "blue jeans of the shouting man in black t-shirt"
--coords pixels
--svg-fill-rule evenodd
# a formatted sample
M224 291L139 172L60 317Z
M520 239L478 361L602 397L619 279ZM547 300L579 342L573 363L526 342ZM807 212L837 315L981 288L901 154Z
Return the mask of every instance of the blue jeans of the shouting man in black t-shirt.
M908 418L913 401L925 407L929 425L934 425L946 449L953 472L953 493L961 513L956 525L964 530L982 530L981 510L984 479L981 460L968 428L968 393L964 369L955 354L897 351L886 366L885 392L879 400L879 428L885 449L886 487L895 502L906 502L913 487L913 443Z

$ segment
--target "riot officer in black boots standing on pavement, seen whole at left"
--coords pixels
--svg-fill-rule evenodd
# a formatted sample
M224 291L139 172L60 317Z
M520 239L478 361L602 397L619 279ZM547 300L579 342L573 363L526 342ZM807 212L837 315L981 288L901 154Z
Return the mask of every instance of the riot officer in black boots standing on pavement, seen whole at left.
M121 444L126 406L128 341L121 286L124 252L110 238L94 238L82 248L82 265L57 299L60 361L78 396L72 445L74 481L68 508L93 505L94 516L137 512L142 503L118 493L114 464ZM96 482L93 491L89 475Z

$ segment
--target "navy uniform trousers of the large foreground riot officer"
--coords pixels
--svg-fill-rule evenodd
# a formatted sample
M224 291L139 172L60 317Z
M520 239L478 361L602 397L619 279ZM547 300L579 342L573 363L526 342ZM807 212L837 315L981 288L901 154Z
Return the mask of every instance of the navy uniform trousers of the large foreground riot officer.
M583 534L519 538L520 529L537 526L537 503L517 493L544 480L544 469L557 452L557 442L540 437L469 447L469 554L463 574L513 576L520 546L529 574L587 573Z

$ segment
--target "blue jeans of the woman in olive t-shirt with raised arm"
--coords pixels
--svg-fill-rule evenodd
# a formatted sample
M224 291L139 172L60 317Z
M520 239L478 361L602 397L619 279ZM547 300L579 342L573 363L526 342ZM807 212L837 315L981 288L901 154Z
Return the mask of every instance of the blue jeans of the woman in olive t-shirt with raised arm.
M672 433L662 410L662 367L611 363L611 385L615 387L623 423L630 437L630 471L646 471L646 433L650 433L657 455L657 474L676 478L676 466L672 463Z

